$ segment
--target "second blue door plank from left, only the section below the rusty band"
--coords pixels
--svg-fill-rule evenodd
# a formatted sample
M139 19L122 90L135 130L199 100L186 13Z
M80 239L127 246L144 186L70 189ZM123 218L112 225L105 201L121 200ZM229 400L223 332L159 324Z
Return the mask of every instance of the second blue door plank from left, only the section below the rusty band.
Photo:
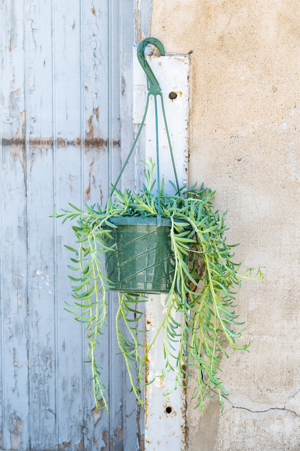
M29 403L31 449L51 449L56 441L55 297L52 155L31 148L28 179ZM50 189L48 188L50 187Z

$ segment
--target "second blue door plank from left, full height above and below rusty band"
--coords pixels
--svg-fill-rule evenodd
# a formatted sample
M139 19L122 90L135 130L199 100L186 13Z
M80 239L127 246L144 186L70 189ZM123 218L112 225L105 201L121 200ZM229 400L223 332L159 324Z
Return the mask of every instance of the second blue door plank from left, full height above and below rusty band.
M36 139L52 135L51 3L28 0L26 13L26 117L30 137ZM54 203L52 149L26 144L30 446L51 449L57 440L53 225L48 218Z

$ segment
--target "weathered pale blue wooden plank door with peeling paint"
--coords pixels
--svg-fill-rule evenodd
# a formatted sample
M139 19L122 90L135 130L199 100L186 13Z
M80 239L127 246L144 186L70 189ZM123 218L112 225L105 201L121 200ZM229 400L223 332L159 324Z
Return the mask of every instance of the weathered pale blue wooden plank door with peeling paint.
M132 17L133 0L0 2L0 449L135 449L113 297L98 349L108 416L64 311L70 227L49 218L54 204L104 204L119 170Z

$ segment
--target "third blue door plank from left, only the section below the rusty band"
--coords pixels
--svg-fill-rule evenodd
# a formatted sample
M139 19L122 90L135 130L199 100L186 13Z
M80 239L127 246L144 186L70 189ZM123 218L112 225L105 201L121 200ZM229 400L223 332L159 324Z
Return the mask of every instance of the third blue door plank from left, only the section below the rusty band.
M57 207L65 207L67 201L79 205L81 199L80 148L59 149L55 155L55 201ZM64 310L67 302L73 305L70 280L66 265L70 264L70 252L64 244L74 247L75 238L70 224L56 220L55 229L55 297L57 313L57 421L58 444L66 450L83 446L84 435L84 375L86 353L82 346L82 327ZM88 449L88 448L87 448Z

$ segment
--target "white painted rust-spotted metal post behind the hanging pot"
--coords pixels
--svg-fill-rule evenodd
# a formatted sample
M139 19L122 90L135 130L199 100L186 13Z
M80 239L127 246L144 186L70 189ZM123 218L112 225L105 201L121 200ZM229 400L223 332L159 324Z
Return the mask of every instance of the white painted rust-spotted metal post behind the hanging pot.
M149 65L160 84L166 120L168 124L171 145L176 165L179 184L187 181L187 123L188 123L188 79L189 58L183 56L149 56ZM169 98L169 93L174 92L177 97ZM145 158L151 157L156 161L155 142L155 115L154 100L151 96L149 110L146 118L145 129ZM139 66L136 57L136 48L133 55L133 122L140 124L144 113L146 101L146 78ZM158 111L160 100L158 98ZM172 169L167 137L163 124L162 114L158 114L159 129L159 169L160 176L164 177L165 191L173 193L174 190L168 180L175 182ZM141 146L142 143L139 143ZM147 342L149 343L160 325L164 315L165 296L149 296L146 303L145 325L147 328ZM164 369L162 346L157 343L153 345L148 354L149 374L158 376ZM163 396L174 385L172 373L155 381L145 387L145 451L159 451L171 449L172 451L183 451L185 449L185 390L177 387L168 396Z

